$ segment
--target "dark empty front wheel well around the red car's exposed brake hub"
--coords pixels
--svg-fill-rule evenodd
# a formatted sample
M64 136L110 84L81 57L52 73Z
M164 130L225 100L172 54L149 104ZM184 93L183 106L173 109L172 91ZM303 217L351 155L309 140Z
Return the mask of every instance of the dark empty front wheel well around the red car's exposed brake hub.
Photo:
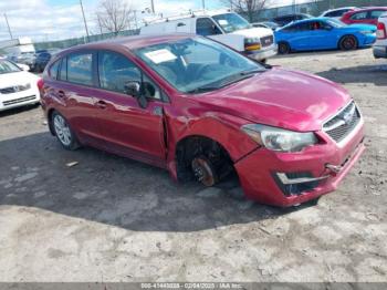
M189 136L179 141L176 146L176 170L180 182L194 178L191 162L200 155L212 163L219 179L233 170L232 159L220 143L205 136Z

